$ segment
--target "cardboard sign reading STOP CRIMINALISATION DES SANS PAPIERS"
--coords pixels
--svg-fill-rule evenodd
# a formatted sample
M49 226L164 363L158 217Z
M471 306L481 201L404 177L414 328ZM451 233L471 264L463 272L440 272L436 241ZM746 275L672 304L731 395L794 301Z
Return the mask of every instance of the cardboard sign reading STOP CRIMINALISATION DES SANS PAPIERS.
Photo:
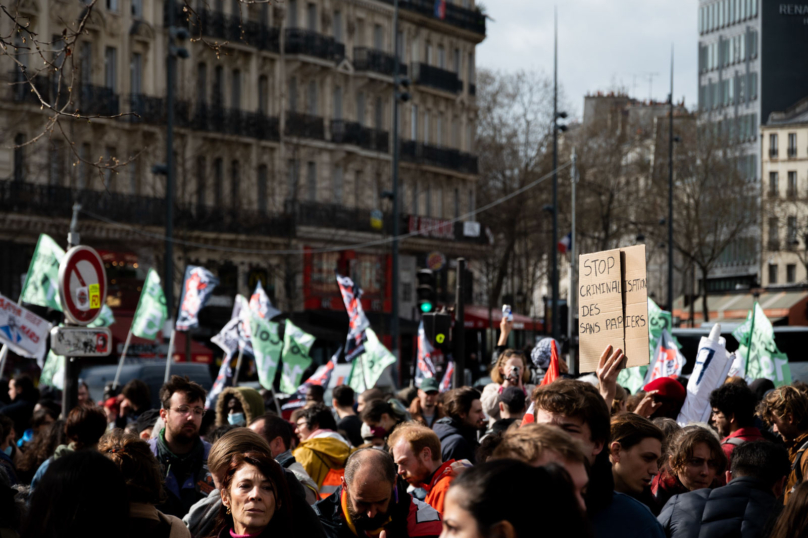
M578 267L581 371L595 371L609 345L628 367L648 364L645 245L582 254Z

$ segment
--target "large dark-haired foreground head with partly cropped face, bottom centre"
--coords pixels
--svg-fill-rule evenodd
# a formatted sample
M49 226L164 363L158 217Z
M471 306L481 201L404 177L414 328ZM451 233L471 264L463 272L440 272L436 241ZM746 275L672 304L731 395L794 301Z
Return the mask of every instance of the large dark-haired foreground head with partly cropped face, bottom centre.
M515 484L530 484L531 494L514 494ZM531 467L516 460L494 460L468 469L452 482L443 512L442 537L538 535L592 536L570 477L560 465Z

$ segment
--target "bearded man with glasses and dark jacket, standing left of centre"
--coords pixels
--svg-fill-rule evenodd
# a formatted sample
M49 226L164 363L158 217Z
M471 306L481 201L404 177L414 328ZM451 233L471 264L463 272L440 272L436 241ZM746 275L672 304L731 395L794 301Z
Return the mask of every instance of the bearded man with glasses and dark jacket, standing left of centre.
M165 428L149 441L160 462L167 492L166 501L158 509L182 518L215 487L207 465L210 444L199 437L205 415L205 389L187 377L171 376L160 389L160 401Z

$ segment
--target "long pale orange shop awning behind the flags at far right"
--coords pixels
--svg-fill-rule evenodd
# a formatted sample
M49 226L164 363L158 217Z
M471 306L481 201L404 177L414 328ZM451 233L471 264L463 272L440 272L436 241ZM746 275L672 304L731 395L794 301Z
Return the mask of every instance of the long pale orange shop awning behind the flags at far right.
M770 289L762 292L757 298L751 292L722 295L708 295L707 307L710 309L710 321L738 321L746 319L755 301L760 303L766 317L778 325L808 325L806 306L808 291ZM703 299L698 297L693 305L694 321L704 321ZM681 321L690 320L690 305L685 306L684 296L673 303L673 315Z

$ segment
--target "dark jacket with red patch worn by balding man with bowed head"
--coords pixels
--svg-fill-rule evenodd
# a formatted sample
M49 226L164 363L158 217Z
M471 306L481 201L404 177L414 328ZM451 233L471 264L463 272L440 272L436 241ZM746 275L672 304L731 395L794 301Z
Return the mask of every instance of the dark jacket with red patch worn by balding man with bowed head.
M435 509L413 499L400 483L396 487L398 502L390 510L392 521L384 527L387 538L437 538L441 533L441 522ZM326 538L356 538L342 515L341 499L342 488L339 488L314 505Z

